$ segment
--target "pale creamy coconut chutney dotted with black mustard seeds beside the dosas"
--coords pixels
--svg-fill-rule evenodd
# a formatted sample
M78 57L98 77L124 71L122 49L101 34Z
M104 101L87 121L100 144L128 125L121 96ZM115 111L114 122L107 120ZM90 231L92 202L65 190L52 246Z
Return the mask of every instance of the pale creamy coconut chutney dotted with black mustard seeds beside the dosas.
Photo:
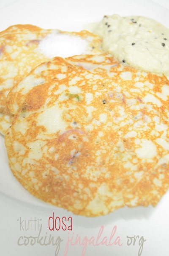
M169 77L169 29L146 17L105 15L93 31L119 61Z

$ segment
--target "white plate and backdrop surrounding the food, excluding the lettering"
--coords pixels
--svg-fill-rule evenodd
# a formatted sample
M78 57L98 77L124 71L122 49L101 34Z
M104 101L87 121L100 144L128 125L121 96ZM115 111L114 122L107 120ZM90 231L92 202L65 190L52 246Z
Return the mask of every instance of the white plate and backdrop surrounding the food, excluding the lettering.
M161 6L157 6L153 2L159 3ZM67 31L81 30L85 23L99 21L104 14L113 13L119 13L122 16L144 15L169 27L169 10L165 9L169 9L169 1L154 0L153 2L148 0L0 0L0 31L18 23L29 23L42 28L59 28ZM21 220L26 221L30 220L30 217L39 219L39 222L42 223L41 235L46 236L48 240L49 234L55 239L60 236L63 242L60 244L58 255L63 256L68 240L68 231L49 231L48 219L52 216L52 212L55 217L71 216L73 231L69 231L70 236L79 235L81 239L85 236L89 239L94 236L96 239L101 225L104 225L102 239L105 236L109 239L112 228L114 225L117 226L114 238L120 236L120 241L123 242L122 246L88 245L86 256L137 256L140 247L139 240L136 240L135 245L127 245L127 236L134 235L138 235L139 238L143 236L146 239L142 256L169 255L169 193L155 208L129 209L126 207L98 218L75 216L63 209L41 203L22 189L8 168L2 136L0 137L0 174L0 255L2 256L55 255L56 246L17 245L21 236L38 236L38 231L35 231L34 227L30 230L29 226L28 231L20 230L20 223L17 221L20 217ZM82 249L83 246L69 246L67 255L80 256Z

